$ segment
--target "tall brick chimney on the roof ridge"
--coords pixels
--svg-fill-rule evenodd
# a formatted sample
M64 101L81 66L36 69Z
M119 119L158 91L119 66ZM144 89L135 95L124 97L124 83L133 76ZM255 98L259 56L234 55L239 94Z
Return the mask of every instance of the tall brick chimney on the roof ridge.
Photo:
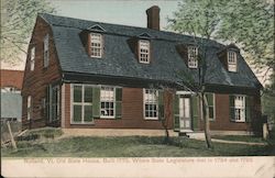
M157 5L153 5L146 10L147 27L160 31L160 11Z

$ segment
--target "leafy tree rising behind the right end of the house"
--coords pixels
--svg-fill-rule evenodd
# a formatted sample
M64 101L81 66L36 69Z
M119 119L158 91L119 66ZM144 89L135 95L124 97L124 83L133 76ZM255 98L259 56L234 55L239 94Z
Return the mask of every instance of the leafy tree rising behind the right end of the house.
M274 2L227 1L220 11L217 38L237 43L257 68L274 70Z

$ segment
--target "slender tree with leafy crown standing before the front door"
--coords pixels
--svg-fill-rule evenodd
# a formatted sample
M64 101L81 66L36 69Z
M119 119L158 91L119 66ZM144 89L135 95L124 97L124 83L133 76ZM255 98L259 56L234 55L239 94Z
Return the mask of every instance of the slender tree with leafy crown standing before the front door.
M209 107L206 97L206 54L207 45L210 38L218 30L220 23L220 8L222 1L205 0L194 1L185 0L179 3L178 11L174 13L174 19L169 19L169 27L180 33L187 33L194 36L196 46L198 46L198 86L194 81L188 81L193 88L193 91L197 92L200 102L202 103L202 119L205 122L205 137L208 148L212 148L211 135L210 135L210 123L209 123ZM200 36L198 38L197 36Z

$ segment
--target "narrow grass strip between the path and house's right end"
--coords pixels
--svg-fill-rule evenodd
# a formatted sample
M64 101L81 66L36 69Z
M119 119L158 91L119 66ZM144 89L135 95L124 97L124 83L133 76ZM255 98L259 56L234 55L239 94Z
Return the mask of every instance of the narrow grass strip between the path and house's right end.
M212 138L237 141L237 142L250 142L250 143L266 143L262 137L251 135L212 135Z

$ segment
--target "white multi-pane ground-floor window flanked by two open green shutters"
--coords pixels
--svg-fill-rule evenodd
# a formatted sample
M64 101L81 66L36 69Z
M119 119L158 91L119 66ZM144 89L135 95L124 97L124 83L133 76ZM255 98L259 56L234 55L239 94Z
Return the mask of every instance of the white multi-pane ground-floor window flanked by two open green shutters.
M101 118L114 118L114 88L101 87L100 90Z

